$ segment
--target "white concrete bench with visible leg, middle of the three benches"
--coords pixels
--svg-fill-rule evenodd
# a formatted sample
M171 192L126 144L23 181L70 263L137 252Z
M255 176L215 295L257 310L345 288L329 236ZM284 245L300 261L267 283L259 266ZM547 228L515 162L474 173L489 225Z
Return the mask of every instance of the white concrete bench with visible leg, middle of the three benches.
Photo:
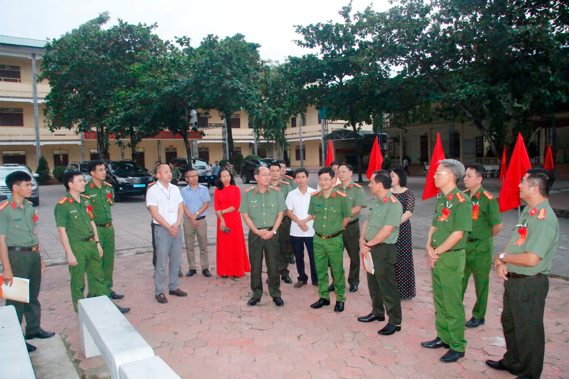
M154 356L154 350L106 296L81 299L79 332L85 357L102 355L111 378L119 366Z

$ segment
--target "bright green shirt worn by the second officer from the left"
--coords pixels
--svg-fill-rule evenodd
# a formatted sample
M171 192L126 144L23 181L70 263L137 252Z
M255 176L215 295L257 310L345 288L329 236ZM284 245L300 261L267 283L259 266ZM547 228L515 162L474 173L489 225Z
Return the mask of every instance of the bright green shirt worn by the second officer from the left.
M81 195L81 202L75 201L69 192L61 199L53 210L55 224L65 228L67 238L70 242L91 238L95 235L93 231L93 220L87 209L90 206L90 198Z

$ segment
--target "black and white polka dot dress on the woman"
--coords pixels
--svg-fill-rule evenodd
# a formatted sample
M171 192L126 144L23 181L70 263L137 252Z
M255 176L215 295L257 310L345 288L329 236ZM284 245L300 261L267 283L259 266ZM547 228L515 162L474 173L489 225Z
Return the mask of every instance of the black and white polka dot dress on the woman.
M415 195L413 191L407 189L402 193L393 194L403 206L403 213L415 208ZM399 238L397 239L397 264L395 265L395 276L399 286L399 294L402 299L414 298L417 294L415 290L415 268L413 265L413 241L411 240L411 223L409 220L399 225Z

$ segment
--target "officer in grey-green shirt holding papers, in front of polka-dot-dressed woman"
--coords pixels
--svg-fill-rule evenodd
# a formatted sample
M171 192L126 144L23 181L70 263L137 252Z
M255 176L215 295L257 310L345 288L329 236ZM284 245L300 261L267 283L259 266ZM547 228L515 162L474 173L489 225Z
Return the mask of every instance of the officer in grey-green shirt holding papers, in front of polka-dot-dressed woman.
M340 170L342 167L340 165ZM376 198L372 200L368 219L362 227L359 247L366 256L372 256L375 266L373 274L368 272L368 288L373 309L369 315L358 317L358 321L384 321L387 313L389 322L378 331L378 334L388 336L401 330L401 295L395 278L397 263L395 243L399 236L403 207L391 194L389 172L374 171L369 180L369 188Z

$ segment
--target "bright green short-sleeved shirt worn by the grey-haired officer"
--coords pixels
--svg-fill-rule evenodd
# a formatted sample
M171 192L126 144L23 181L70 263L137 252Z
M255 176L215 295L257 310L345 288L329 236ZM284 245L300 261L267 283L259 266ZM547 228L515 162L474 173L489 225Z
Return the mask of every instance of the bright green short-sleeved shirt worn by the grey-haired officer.
M431 236L431 245L438 247L447 238L457 231L469 232L472 230L472 201L470 198L453 188L446 195L437 199L435 215L432 218L432 226L436 228ZM464 249L468 233L451 249Z

